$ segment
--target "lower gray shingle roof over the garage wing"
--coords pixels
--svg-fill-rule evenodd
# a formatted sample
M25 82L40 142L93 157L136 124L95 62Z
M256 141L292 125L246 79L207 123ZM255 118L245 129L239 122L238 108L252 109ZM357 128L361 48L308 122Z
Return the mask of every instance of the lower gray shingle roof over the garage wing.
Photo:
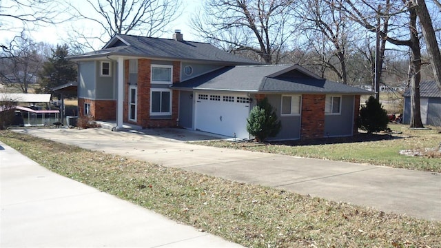
M358 87L321 79L298 65L229 66L176 83L173 88L263 93L371 94Z

